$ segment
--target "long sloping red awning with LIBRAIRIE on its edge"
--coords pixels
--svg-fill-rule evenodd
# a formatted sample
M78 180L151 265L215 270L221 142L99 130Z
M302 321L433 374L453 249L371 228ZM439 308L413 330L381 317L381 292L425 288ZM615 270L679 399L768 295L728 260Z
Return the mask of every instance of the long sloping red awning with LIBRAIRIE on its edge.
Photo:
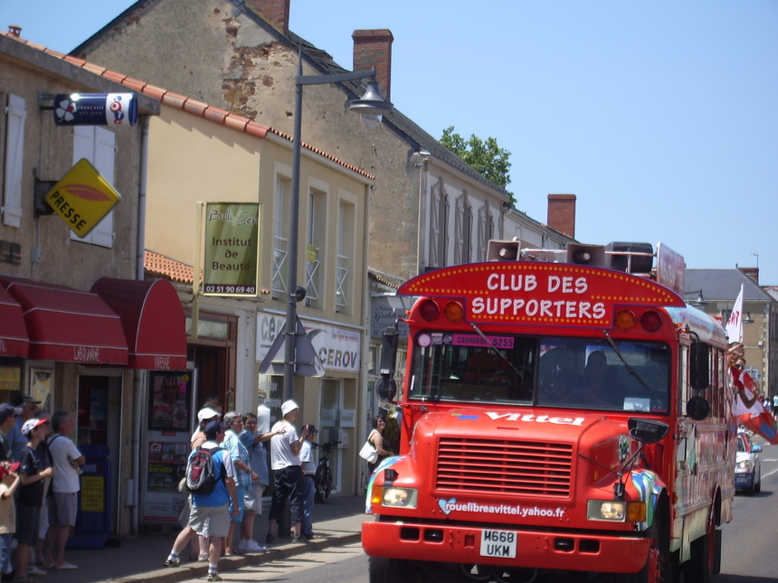
M127 364L121 320L96 294L32 279L0 276L24 315L28 358Z

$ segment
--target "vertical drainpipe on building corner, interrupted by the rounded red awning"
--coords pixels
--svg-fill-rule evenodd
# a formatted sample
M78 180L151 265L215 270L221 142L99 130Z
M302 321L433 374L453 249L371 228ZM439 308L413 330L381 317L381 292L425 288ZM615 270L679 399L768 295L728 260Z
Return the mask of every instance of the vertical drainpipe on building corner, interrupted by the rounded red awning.
M138 247L136 249L136 279L143 280L146 276L146 181L148 176L148 116L141 117L140 130L140 168L138 175ZM132 473L128 480L127 502L132 507L130 531L139 532L139 490L143 483L140 479L140 437L141 412L143 410L143 387L146 380L145 371L135 371L132 407Z

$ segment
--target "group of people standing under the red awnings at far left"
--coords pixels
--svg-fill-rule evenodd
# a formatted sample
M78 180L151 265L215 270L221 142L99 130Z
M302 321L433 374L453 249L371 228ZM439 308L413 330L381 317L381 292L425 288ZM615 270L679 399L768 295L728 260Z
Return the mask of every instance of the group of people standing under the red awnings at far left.
M20 395L0 404L0 577L34 583L46 569L70 570L65 545L76 523L85 458L66 410L51 418ZM16 541L14 553L14 540Z

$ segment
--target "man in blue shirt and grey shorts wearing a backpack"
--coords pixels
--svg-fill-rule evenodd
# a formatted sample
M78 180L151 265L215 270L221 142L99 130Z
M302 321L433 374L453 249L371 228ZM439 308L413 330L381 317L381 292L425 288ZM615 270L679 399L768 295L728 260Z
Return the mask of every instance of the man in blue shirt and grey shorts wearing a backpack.
M204 449L219 447L224 439L225 429L226 427L219 421L211 421L205 426L205 443L200 447ZM194 449L191 455L194 455L196 451ZM209 522L208 532L211 536L207 580L221 581L222 578L216 572L216 567L222 554L222 539L230 532L230 501L232 501L232 516L235 516L238 512L238 499L232 458L223 449L214 452L212 457L216 486L211 494L192 494L192 512L189 514L189 522L176 537L173 550L170 551L165 566L178 567L178 554L186 548L194 534L204 530L207 520Z

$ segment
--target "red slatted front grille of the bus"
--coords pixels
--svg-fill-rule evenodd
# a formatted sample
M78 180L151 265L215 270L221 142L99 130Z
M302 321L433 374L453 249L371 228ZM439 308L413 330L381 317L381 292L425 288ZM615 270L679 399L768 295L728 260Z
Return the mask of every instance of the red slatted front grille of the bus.
M441 437L435 483L463 493L567 498L572 466L571 444Z

